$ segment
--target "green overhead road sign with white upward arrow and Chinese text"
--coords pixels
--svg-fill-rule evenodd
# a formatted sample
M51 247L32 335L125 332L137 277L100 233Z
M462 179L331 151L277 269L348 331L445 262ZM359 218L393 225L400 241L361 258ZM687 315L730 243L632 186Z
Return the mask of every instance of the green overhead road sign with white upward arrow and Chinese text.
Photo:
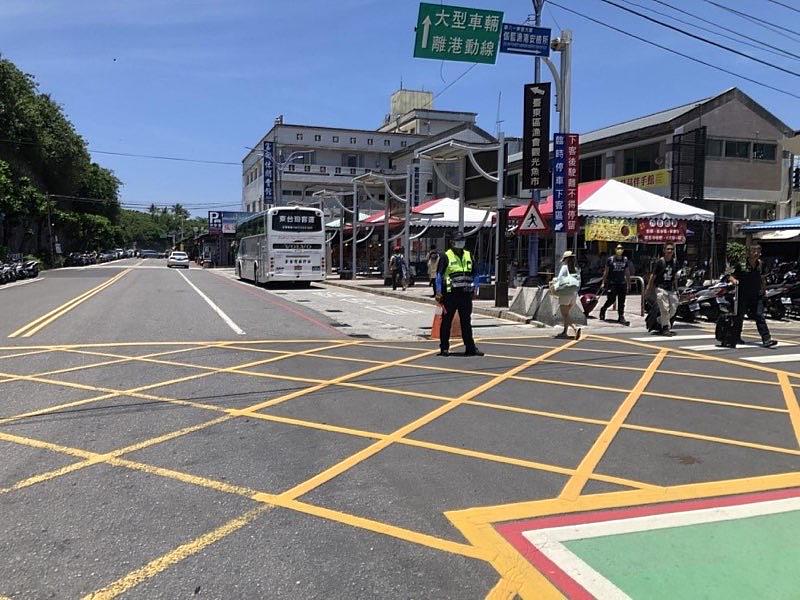
M414 56L494 64L502 29L497 10L421 3Z

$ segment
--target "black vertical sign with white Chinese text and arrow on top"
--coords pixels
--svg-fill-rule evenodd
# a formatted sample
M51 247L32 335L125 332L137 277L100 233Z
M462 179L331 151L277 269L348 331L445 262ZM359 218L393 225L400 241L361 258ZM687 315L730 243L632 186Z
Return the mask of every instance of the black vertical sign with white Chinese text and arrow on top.
M525 86L522 124L522 189L550 187L550 84Z

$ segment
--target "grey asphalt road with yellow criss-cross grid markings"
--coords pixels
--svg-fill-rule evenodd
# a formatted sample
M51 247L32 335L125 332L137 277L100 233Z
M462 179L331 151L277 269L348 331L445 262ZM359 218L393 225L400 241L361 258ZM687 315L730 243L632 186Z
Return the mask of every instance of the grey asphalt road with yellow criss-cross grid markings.
M526 532L800 490L796 327L445 359L320 290L157 260L0 288L0 599L584 597Z

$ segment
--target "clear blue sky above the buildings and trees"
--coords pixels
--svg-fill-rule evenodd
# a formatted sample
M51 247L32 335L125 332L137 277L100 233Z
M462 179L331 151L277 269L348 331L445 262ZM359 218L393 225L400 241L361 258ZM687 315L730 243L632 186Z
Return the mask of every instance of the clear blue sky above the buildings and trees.
M723 1L800 30L798 13L768 0ZM800 8L798 0L783 1ZM669 11L653 0L636 2ZM800 94L800 78L666 31L600 0L558 3ZM800 36L771 33L703 0L670 3L800 55ZM451 4L502 10L505 21L517 23L532 12L530 0ZM412 57L418 6L415 0L3 0L0 53L36 76L92 150L238 163L245 146L257 142L278 114L291 123L375 128L401 78L407 88L434 92L457 78L469 65ZM574 32L573 130L596 129L734 85L800 128L795 98L552 5L546 5L543 25ZM736 47L800 71L798 60ZM435 107L477 112L478 124L494 132L499 96L504 131L519 135L522 85L532 80L532 59L500 55L496 65L479 65L455 83ZM241 198L236 165L94 158L123 181L127 203L181 202L203 214L200 205L234 208Z

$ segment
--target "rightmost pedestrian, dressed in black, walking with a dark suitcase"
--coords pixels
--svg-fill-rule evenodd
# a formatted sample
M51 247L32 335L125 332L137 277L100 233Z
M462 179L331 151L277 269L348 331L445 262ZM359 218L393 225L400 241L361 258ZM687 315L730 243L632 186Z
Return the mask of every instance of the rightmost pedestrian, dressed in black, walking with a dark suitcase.
M737 263L734 267L733 275L728 277L728 281L739 286L739 306L734 320L732 338L733 343L723 343L728 348L735 348L736 344L744 344L742 340L742 327L744 326L744 316L756 322L758 334L761 336L761 343L765 348L772 348L778 342L772 339L764 318L764 271L761 264L761 247L750 246L747 260Z

